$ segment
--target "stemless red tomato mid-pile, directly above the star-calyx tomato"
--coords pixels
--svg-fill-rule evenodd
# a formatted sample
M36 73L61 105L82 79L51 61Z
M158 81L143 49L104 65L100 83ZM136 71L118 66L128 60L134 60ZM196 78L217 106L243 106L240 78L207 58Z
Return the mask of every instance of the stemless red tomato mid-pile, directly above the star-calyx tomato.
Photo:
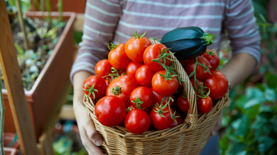
M148 69L146 65L142 65L136 71L136 81L141 86L151 86L151 81L154 74L154 71Z

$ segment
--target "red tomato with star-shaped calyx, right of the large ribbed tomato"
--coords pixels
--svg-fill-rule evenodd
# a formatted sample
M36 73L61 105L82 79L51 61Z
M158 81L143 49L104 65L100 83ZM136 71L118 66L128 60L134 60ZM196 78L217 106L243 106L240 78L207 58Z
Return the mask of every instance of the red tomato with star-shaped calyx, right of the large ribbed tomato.
M138 106L136 105L136 102L137 101L137 97L139 99L138 102L143 102L141 104L138 103ZM145 86L140 86L140 87L137 87L136 89L134 89L131 93L131 96L130 96L130 102L131 104L133 105L133 107L139 109L139 106L140 108L143 108L143 109L147 109L151 106L151 104L153 103L153 99L154 99L154 95L152 93L152 91L148 88L148 87L145 87Z

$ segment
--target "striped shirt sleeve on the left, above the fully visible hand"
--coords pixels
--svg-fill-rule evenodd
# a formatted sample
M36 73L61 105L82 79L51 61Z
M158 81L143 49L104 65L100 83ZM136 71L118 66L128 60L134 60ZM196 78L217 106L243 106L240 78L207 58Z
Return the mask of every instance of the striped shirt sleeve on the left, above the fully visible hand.
M107 44L113 40L120 14L119 0L87 0L82 42L70 73L72 83L76 72L95 74L96 63L107 59Z

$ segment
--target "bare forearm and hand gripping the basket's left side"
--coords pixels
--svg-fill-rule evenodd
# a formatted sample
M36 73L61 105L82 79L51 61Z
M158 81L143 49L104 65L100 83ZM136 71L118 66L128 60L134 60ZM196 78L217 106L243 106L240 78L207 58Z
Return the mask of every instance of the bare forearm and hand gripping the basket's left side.
M89 155L102 155L103 152L99 146L102 145L102 138L94 126L92 118L88 115L88 111L83 104L84 91L82 89L83 82L91 74L87 72L77 72L73 77L74 95L73 110L79 128L82 144L86 148Z

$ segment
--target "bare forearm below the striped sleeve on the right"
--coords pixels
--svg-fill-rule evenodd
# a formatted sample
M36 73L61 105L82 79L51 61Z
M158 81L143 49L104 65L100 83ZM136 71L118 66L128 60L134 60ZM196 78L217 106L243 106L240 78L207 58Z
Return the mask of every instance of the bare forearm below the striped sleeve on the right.
M256 59L250 54L239 53L232 56L221 72L227 77L231 88L234 88L252 74L256 63Z

